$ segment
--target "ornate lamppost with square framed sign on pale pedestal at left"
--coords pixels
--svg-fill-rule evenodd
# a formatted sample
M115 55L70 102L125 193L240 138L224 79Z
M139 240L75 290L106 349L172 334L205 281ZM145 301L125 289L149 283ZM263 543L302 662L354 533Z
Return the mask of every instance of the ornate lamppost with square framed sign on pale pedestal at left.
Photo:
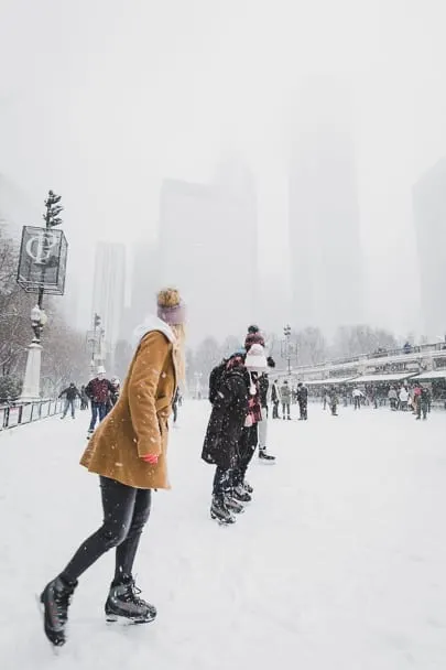
M62 224L59 214L61 196L48 191L43 219L45 227L23 226L22 244L17 281L26 293L37 293L37 303L31 311L31 327L34 337L28 347L26 369L23 380L22 401L40 398L42 329L47 323L43 310L43 295L63 295L65 290L65 268L68 245L62 230L54 228Z

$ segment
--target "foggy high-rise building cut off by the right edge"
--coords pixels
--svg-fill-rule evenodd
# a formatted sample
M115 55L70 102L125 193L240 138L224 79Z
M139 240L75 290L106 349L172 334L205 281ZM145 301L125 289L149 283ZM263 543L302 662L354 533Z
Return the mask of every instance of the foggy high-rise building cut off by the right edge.
M417 237L425 335L446 334L443 288L446 283L446 158L414 185L413 216Z

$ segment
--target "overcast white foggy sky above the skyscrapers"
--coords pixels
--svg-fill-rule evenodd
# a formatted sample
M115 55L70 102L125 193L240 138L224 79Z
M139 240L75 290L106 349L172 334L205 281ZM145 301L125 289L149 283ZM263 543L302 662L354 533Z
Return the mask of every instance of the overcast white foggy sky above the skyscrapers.
M87 293L86 248L154 237L161 180L206 181L231 151L257 175L262 268L286 277L292 109L304 79L333 74L355 99L369 321L416 328L411 186L446 153L445 6L0 0L0 175L14 218L35 223L47 188L63 194Z

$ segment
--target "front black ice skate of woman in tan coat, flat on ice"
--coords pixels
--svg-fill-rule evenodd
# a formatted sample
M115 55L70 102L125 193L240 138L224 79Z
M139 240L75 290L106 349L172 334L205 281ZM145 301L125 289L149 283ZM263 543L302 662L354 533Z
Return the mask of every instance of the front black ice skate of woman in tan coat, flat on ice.
M130 624L150 624L156 617L156 608L138 597L141 591L134 580L129 577L123 584L110 586L106 603L108 623L126 622Z

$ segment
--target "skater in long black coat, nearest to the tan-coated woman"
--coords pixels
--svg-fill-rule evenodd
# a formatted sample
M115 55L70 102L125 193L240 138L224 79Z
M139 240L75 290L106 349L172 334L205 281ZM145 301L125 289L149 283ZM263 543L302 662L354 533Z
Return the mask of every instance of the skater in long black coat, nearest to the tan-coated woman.
M203 445L202 458L216 465L210 516L220 523L233 523L228 506L232 488L232 468L237 464L238 443L248 415L249 377L244 357L237 353L225 364L213 392L213 411Z

